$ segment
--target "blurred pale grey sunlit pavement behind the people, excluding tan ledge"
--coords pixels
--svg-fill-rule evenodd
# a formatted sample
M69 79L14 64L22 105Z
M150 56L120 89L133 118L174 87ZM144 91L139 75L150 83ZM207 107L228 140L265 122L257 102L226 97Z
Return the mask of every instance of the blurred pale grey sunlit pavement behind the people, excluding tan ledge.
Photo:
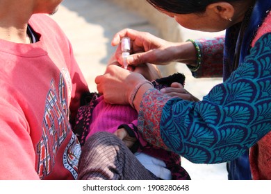
M83 71L90 91L97 91L95 77L104 73L108 59L115 51L110 41L118 30L133 28L159 35L156 27L150 24L148 19L110 0L65 0L58 12L51 17L58 22L69 37L75 58ZM183 39L203 35L187 29L182 29L182 31ZM196 80L183 64L176 64L176 71L186 75L186 89L198 98L202 98L213 85L222 81L221 79ZM182 159L182 166L195 180L227 179L225 164L192 164Z

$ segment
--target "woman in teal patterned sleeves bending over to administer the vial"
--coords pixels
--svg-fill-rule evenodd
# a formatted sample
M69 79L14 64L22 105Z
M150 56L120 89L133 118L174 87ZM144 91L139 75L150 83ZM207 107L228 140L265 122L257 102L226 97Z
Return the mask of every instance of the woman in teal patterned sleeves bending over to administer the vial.
M223 73L224 82L192 102L183 100L187 94L183 99L166 96L141 76L110 66L96 79L98 91L109 103L136 107L138 129L149 143L194 163L232 161L261 143L271 130L271 1L148 1L186 28L227 29L226 35L177 44L125 29L115 35L113 45L131 37L133 52L140 54L132 55L129 64L186 62L194 76ZM271 171L269 176L263 171L254 177L270 179Z

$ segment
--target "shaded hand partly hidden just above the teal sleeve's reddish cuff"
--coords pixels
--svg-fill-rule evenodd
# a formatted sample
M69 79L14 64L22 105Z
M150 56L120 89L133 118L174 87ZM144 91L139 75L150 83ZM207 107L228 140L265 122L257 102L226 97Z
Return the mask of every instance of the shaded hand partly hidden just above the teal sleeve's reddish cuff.
M192 94L190 94L186 89L184 89L183 85L181 85L178 82L173 82L170 87L161 89L161 93L167 94L168 96L172 97L179 97L182 98L183 100L189 100L192 102L199 101L198 98L192 96Z

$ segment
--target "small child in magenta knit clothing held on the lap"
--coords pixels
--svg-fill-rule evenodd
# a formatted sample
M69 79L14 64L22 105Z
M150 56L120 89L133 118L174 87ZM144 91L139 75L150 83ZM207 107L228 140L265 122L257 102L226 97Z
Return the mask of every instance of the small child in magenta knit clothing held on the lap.
M172 82L183 85L185 77L175 73L166 78L154 80L156 89L170 87ZM114 133L124 128L136 143L130 148L145 168L161 179L190 179L190 176L181 167L181 157L173 152L154 148L144 141L138 133L138 112L130 105L111 105L104 101L103 96L89 93L83 98L83 106L79 108L74 132L79 137L81 145L96 132Z

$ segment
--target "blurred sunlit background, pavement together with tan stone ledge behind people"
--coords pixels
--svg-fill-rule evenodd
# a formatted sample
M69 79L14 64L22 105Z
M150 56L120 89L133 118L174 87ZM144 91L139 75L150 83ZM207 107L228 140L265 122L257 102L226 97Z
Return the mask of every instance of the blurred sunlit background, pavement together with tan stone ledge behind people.
M174 19L158 12L145 0L65 0L51 17L63 28L74 49L74 55L88 82L90 91L97 91L95 77L104 73L115 48L110 42L123 28L147 31L172 42L220 33L202 33L182 28ZM186 76L186 89L197 98L208 94L220 78L195 79L185 64L172 63L159 67L163 76L176 71ZM192 164L182 159L182 166L194 180L226 180L226 164Z

